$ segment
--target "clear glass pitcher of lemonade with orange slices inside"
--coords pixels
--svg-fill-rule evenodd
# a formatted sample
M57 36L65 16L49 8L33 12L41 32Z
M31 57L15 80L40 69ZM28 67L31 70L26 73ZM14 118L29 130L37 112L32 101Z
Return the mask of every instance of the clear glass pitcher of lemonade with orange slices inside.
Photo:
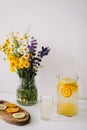
M73 116L78 112L78 77L59 76L57 85L57 113Z

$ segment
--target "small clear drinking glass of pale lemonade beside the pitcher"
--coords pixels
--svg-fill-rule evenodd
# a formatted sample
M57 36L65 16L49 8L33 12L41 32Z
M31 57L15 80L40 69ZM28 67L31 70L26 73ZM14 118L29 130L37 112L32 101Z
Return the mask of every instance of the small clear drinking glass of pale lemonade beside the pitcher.
M53 110L53 97L52 96L40 96L40 117L43 120L50 120Z

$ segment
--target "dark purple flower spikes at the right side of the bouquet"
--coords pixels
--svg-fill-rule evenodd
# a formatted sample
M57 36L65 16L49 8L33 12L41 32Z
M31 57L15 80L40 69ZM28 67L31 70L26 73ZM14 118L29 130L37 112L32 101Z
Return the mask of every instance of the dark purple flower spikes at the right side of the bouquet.
M30 61L30 68L29 68L29 75L30 77L36 76L38 67L40 66L42 62L42 58L49 54L50 49L49 47L42 46L41 51L37 51L37 40L34 39L34 37L31 40L31 43L27 46L29 49L29 53L31 53L33 56L29 58Z

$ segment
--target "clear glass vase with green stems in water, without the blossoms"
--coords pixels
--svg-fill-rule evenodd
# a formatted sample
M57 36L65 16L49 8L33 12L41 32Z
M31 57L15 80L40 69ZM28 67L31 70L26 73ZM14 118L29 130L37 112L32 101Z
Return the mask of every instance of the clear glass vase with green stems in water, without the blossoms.
M17 89L17 102L21 105L29 106L38 101L38 92L35 78L20 78L20 85Z

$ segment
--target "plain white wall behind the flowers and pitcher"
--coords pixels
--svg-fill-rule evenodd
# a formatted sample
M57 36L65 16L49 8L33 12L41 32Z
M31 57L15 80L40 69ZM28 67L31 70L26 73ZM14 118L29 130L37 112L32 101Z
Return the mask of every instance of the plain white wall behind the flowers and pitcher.
M36 77L40 94L56 94L57 75L77 73L87 95L87 0L0 0L0 43L11 30L31 31L51 52ZM0 92L14 92L18 77L0 54ZM83 87L86 91L83 92Z

